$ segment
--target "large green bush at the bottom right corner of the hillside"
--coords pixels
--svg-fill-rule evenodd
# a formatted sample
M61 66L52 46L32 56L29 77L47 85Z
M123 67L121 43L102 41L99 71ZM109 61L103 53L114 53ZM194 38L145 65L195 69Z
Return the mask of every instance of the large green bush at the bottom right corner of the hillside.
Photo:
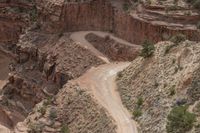
M196 116L188 112L187 108L187 106L177 106L171 110L167 117L167 133L185 133L192 129Z

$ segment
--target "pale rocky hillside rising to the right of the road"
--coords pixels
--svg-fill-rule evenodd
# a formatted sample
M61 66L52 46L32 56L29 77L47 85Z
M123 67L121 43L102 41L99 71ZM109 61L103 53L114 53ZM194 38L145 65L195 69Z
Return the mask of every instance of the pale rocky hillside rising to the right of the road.
M136 118L141 131L165 133L167 115L180 104L193 104L199 99L199 43L156 44L151 58L136 58L118 74L117 84L124 105L134 112L144 101L142 116Z

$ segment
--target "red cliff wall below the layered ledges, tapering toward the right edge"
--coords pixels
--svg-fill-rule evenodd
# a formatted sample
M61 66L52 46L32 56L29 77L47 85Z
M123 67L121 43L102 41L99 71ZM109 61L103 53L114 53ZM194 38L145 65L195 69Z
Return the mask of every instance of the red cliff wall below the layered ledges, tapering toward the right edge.
M186 35L190 40L200 40L200 32L197 30L153 25L120 11L115 12L113 32L116 36L135 44L140 44L144 40L156 43L164 40L164 35L170 37L180 33Z

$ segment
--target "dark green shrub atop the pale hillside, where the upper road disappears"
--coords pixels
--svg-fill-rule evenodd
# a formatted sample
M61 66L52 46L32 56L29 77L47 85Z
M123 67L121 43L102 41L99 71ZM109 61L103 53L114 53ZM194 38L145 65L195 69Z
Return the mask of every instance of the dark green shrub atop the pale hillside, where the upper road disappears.
M154 44L151 43L148 40L145 40L144 43L142 44L142 52L140 54L140 56L147 58L153 55L154 51L155 51L155 47Z

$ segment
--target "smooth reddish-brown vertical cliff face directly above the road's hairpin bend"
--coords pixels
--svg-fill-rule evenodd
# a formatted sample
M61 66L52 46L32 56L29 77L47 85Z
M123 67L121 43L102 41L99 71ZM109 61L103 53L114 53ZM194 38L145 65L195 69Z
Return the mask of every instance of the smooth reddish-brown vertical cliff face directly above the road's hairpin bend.
M67 31L77 30L112 30L113 10L104 0L65 4L63 26Z

